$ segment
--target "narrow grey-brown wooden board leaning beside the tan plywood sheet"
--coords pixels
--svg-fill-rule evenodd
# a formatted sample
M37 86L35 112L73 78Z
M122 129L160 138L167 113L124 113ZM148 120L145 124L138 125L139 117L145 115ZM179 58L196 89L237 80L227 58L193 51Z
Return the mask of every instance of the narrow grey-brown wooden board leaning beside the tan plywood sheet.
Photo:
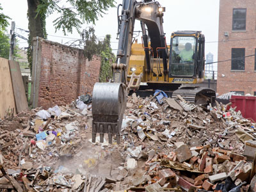
M28 109L28 101L25 93L24 83L20 72L20 65L17 61L9 60L12 86L17 113Z

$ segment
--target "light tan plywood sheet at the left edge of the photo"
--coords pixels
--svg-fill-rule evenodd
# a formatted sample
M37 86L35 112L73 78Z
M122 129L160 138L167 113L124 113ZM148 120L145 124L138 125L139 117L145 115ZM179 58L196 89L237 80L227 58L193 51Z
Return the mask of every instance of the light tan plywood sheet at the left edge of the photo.
M10 112L13 108L13 115L16 115L9 63L8 60L0 58L0 118L4 118L8 109Z

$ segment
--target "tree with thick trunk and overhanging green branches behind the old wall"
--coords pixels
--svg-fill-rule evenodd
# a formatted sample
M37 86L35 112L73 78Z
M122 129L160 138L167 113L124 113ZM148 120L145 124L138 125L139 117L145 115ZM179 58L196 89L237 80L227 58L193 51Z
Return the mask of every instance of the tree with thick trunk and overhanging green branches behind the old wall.
M108 8L115 6L114 0L66 0L68 6L61 6L61 0L27 0L29 20L29 47L32 38L40 36L47 38L45 18L54 12L59 17L53 22L56 31L62 29L63 33L72 33L73 28L78 32L83 23L92 22L102 17ZM28 61L31 65L31 50L28 50Z

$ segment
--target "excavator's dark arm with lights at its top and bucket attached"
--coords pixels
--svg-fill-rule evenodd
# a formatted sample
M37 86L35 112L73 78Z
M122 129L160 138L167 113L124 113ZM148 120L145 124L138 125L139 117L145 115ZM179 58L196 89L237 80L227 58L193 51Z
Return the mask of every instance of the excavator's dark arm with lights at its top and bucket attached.
M104 134L108 134L109 143L112 143L113 134L116 142L120 143L122 119L126 108L126 97L129 88L134 88L132 79L127 82L127 68L131 56L132 36L135 20L140 20L143 31L143 44L147 63L146 73L150 68L150 55L163 59L164 79L168 76L167 59L168 49L163 31L163 10L157 1L144 0L138 3L135 0L124 0L122 14L118 15L118 51L117 61L112 65L113 79L109 83L95 83L92 99L92 141L96 141L97 133L100 142L104 141ZM147 26L147 30L146 27ZM148 41L150 40L150 48ZM141 76L138 78L140 83ZM138 86L136 86L138 89Z

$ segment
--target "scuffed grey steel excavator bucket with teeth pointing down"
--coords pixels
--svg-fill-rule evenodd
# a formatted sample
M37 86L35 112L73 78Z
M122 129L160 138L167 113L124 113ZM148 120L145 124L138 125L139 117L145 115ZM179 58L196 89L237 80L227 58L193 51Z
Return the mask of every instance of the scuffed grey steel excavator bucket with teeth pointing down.
M116 135L120 143L120 132L126 107L126 91L122 83L95 83L92 95L92 142L95 143L97 132L100 143L108 133L109 143Z

